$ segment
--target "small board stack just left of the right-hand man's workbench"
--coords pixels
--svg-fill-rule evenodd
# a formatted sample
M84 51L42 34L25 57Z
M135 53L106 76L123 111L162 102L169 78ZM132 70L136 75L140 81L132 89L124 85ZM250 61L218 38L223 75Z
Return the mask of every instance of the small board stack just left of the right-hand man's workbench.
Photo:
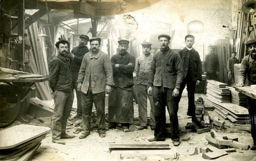
M235 90L233 87L227 87L230 90L231 103L239 106L247 106L247 96Z

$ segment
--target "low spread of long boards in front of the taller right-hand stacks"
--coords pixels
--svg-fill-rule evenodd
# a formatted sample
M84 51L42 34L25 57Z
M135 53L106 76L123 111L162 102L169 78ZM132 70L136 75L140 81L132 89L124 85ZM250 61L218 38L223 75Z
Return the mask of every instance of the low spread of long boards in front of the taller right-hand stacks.
M242 106L232 103L220 103L209 96L203 96L204 100L211 104L215 111L224 119L229 119L232 123L249 123L248 110Z

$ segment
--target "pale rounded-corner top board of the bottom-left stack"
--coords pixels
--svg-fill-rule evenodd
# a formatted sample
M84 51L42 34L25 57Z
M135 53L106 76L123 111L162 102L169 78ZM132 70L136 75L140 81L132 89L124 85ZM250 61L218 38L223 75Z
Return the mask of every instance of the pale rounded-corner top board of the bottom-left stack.
M0 149L9 149L50 131L49 127L35 125L16 125L0 131Z

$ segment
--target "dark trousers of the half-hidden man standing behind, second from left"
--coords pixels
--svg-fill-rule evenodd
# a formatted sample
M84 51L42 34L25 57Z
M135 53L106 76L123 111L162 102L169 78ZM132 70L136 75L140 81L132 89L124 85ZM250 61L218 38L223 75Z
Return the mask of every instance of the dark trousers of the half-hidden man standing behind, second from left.
M77 110L76 113L78 115L82 115L82 92L77 91L77 78L78 78L78 72L79 71L72 71L72 76L73 76L73 85L75 86L76 90L76 99L77 99Z

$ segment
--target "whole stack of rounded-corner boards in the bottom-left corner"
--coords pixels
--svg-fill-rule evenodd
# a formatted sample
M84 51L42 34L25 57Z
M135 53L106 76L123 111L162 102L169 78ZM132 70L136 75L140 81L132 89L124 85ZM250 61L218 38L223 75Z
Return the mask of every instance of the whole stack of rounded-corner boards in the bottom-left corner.
M0 160L30 160L49 127L16 125L0 131Z

